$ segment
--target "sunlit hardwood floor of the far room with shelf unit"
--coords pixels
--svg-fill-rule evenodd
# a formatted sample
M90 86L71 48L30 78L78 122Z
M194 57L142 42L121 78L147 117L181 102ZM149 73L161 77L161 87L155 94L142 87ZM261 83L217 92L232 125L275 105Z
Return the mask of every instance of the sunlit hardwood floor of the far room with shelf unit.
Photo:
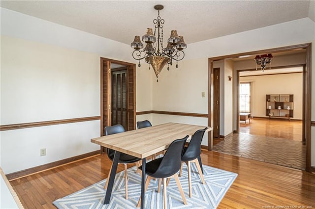
M302 141L302 121L251 118L251 123L240 122L240 133Z

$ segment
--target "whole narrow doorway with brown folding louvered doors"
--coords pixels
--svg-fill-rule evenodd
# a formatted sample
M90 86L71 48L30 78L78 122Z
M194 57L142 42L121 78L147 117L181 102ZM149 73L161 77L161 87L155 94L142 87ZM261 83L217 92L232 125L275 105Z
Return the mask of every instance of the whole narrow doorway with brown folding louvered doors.
M101 133L106 126L121 124L135 129L135 64L100 58Z

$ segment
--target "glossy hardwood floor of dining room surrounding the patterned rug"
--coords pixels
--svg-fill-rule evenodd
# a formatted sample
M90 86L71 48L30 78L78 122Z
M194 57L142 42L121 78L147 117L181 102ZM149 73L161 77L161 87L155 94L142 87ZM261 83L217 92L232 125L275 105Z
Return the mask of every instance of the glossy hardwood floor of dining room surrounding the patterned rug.
M202 150L201 158L205 165L238 173L219 209L315 208L315 174L206 150ZM110 165L111 161L102 154L10 183L26 209L55 208L54 200L105 179ZM123 166L119 165L118 172L122 170Z

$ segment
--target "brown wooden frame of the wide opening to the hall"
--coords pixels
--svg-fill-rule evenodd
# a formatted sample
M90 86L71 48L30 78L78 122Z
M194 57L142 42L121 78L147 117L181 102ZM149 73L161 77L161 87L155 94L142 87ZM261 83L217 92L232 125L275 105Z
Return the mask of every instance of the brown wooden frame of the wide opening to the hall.
M229 54L224 56L217 56L217 57L210 57L208 59L208 86L209 86L209 95L208 95L208 109L209 109L209 117L208 117L208 126L213 125L213 62L224 60L226 58L237 58L239 56L244 55L253 55L253 54L264 54L264 53L275 53L275 52L287 52L292 50L298 50L298 49L306 49L306 70L305 70L305 77L303 76L303 83L305 88L305 105L303 105L303 108L305 108L305 117L303 117L303 123L305 124L305 144L306 144L306 171L311 171L311 125L312 125L312 118L311 118L311 103L312 103L312 43L306 43L306 44L299 44L299 45L293 45L293 46L286 46L286 47L279 47L279 48L273 48L273 49L265 49L265 50L259 50L259 51L252 51L252 52L243 52L243 53L237 53L237 54ZM236 78L238 79L238 78ZM236 89L238 91L238 88ZM237 95L239 93L237 92ZM239 112L238 105L236 105L236 113ZM236 114L235 113L235 114ZM237 115L234 115L234 118L236 118L236 126L238 127L239 119ZM238 129L238 128L237 128ZM236 131L235 131L236 132ZM208 140L210 143L210 147L208 147L209 150L212 150L213 147L213 139ZM208 145L208 146L209 146Z

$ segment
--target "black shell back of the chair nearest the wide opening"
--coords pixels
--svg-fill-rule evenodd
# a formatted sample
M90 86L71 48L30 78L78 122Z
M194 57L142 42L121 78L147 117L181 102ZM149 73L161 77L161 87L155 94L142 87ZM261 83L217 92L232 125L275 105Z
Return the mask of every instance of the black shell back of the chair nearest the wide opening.
M182 156L183 161L193 160L200 156L202 137L207 129L198 130L191 136L189 145Z

